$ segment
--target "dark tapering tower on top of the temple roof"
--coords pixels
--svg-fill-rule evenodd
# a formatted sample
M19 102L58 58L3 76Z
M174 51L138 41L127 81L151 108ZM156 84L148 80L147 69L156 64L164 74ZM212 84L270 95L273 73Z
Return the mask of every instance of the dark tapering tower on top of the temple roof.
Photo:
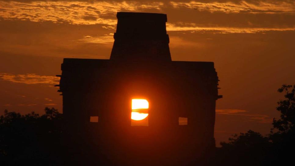
M171 61L166 14L117 13L110 60Z

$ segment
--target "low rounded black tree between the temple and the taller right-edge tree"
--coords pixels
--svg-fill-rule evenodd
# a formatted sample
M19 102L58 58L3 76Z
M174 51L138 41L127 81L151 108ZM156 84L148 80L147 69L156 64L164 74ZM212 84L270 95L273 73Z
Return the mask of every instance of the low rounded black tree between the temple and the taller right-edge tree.
M233 135L229 142L220 142L222 148L217 152L217 163L224 165L263 165L271 147L268 137L249 130ZM216 164L217 164L216 163ZM223 165L221 164L221 165Z

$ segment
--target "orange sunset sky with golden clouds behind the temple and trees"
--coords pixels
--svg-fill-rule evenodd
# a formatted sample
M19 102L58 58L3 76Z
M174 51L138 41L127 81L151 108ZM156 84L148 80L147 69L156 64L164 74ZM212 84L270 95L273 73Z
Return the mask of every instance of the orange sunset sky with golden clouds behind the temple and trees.
M295 84L294 0L1 1L0 111L62 111L63 58L108 59L117 12L165 13L175 61L212 61L215 138L267 134L282 84Z

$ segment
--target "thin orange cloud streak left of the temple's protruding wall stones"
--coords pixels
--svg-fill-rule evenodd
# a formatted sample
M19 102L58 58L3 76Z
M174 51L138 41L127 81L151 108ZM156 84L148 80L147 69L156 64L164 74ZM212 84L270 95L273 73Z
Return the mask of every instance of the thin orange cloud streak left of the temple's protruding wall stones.
M23 84L58 84L60 78L36 74L0 73L0 80Z

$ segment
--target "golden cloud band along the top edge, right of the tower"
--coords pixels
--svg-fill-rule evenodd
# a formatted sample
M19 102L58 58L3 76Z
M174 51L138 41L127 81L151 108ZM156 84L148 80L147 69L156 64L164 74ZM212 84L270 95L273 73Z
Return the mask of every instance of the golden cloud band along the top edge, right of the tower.
M198 11L223 12L223 13L295 13L295 2L246 1L234 2L170 2L173 8L189 8Z

